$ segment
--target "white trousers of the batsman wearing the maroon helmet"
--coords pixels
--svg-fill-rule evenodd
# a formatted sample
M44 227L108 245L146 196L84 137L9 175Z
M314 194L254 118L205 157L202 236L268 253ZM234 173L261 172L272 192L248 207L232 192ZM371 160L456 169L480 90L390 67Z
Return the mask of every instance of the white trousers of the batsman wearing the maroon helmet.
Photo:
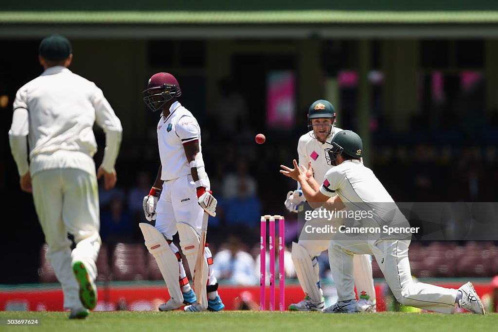
M191 175L184 175L174 180L164 181L161 197L157 202L156 213L155 227L167 239L172 239L173 235L178 232L177 222L186 223L194 228L197 234L201 233L204 210L197 203L195 182ZM204 248L204 256L210 263L208 285L214 285L217 280L212 268L213 255L208 247ZM179 267L180 277L184 278L186 274L181 262L179 263ZM194 271L194 266L190 266L190 271Z

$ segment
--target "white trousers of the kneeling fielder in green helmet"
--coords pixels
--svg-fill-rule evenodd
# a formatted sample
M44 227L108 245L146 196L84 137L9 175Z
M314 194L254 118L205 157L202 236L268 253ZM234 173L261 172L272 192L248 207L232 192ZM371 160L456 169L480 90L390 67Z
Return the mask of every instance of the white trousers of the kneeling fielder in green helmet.
M408 260L410 240L358 240L336 235L330 242L329 260L338 301L355 298L353 255L370 253L399 303L443 314L455 312L456 289L413 282Z

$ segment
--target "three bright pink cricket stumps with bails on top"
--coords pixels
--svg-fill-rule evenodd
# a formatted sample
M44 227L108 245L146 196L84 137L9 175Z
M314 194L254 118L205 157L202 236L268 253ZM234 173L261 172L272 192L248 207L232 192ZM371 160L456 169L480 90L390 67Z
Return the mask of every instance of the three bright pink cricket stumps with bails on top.
M269 252L270 252L270 302L269 311L275 310L275 219L278 220L278 289L279 309L284 311L285 306L285 220L281 216L261 216L260 237L260 273L259 273L259 310L266 310L266 220L269 224Z

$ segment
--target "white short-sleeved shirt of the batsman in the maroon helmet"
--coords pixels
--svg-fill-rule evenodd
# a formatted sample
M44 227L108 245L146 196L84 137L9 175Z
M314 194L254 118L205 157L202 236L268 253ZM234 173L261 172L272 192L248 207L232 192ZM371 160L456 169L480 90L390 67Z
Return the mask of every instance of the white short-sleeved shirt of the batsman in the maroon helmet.
M161 116L157 123L157 141L161 158L161 180L168 181L191 174L183 145L199 142L201 148L201 128L192 113L173 103L168 116Z

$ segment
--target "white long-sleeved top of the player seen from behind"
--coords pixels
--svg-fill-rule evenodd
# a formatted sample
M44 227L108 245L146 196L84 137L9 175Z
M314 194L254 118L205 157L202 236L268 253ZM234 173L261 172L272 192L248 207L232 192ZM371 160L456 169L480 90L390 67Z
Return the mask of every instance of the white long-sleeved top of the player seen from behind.
M94 173L95 164L90 169L92 165L82 165L75 154L66 160L48 156L55 152L60 155L66 151L67 155L67 151L79 151L93 157L97 151L93 132L95 122L106 133L102 165L106 171L112 172L123 128L95 83L66 67L51 67L17 91L13 109L8 134L19 175L28 170L26 136L32 162L31 175L50 168L77 168Z

